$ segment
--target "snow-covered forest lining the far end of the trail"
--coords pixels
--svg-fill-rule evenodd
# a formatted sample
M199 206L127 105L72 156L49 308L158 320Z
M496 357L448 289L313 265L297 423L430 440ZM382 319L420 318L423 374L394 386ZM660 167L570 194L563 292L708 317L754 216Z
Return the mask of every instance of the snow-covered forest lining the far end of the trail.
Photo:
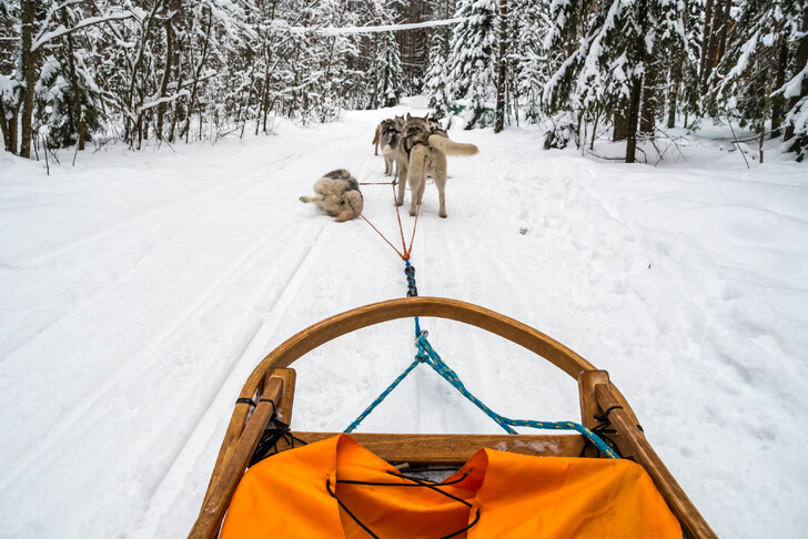
M7 151L216 140L273 119L425 93L466 128L541 123L545 146L735 124L808 148L797 0L3 0ZM446 23L451 21L451 23Z

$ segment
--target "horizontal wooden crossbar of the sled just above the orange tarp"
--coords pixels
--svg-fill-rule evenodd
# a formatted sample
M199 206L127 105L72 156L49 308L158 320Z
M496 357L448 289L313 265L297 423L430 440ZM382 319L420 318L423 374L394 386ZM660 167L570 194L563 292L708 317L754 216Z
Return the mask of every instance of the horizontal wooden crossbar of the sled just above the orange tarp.
M340 433L294 433L312 444ZM462 466L479 449L487 447L501 451L544 457L578 457L586 444L578 434L568 435L413 435L363 434L351 437L365 449L391 464L408 462L414 466ZM279 450L286 449L279 445Z

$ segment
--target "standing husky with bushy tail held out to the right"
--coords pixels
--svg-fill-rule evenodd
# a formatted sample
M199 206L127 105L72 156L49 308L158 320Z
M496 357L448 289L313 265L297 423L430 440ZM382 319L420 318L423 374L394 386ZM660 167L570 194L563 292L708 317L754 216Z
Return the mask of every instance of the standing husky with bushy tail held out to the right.
M479 150L474 144L451 141L435 120L406 115L396 163L398 165L398 196L396 205L404 204L404 179L410 184L410 215L415 215L424 196L426 176L437 185L440 209L437 214L446 216L446 155L474 155ZM433 131L434 129L434 131Z

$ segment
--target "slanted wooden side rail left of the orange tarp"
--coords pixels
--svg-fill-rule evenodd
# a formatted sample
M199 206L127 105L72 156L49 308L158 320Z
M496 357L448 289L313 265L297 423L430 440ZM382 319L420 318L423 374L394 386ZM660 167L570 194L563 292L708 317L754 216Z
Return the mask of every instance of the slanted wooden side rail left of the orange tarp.
M216 481L210 486L209 496L205 499L196 522L191 529L189 538L209 539L219 535L224 513L233 498L235 487L244 475L250 459L255 452L255 447L264 433L266 425L272 419L275 406L270 400L277 403L283 393L284 380L280 376L273 376L266 380L266 387L256 404L255 410L250 416L238 443L223 462L223 469Z

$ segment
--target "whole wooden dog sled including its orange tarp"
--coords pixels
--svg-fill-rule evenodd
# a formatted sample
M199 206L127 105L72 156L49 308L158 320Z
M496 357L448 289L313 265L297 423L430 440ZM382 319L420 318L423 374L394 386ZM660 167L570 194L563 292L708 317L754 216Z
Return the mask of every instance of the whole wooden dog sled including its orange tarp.
M573 434L350 436L287 428L292 363L341 335L405 317L477 326L551 362L578 383L583 427L570 424L578 430ZM623 458L597 458L614 452L592 431ZM434 467L457 471L441 482L407 472ZM189 537L680 538L683 532L716 537L605 370L492 311L407 297L320 322L257 365L241 390Z

